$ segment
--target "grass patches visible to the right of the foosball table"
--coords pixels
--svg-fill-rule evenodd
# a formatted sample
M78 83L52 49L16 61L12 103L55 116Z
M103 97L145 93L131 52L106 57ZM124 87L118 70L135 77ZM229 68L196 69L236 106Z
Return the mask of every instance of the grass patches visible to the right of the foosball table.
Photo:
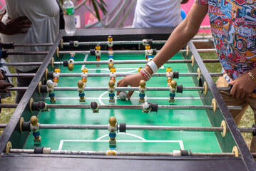
M200 53L201 58L203 59L214 59L217 58L216 53ZM221 65L220 63L205 63L206 68L209 73L220 73ZM213 81L217 81L217 77L213 77ZM254 124L254 113L252 108L247 108L245 114L242 116L242 120L240 121L238 127L250 128L252 124ZM250 148L250 143L252 139L252 133L242 133L242 137L245 139L247 146Z

